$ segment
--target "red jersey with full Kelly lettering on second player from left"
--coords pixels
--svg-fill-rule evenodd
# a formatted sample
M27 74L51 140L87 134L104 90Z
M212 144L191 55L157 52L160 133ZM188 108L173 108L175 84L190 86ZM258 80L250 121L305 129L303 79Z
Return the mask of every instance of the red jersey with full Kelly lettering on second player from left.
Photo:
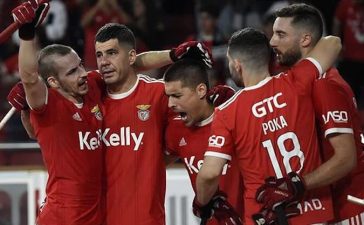
M132 89L109 94L104 106L107 224L165 224L164 83L138 75Z

